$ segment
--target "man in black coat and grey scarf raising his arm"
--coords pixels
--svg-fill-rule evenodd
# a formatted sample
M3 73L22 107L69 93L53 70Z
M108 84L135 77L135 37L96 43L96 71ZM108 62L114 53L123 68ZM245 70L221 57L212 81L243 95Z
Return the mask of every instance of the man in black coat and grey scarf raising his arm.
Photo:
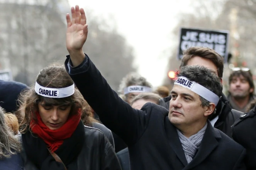
M203 66L180 68L170 112L154 103L132 108L110 88L82 47L88 34L83 8L66 15L65 61L85 100L100 120L124 140L131 170L245 170L245 149L212 127L222 93L219 77ZM108 58L105 58L108 60Z

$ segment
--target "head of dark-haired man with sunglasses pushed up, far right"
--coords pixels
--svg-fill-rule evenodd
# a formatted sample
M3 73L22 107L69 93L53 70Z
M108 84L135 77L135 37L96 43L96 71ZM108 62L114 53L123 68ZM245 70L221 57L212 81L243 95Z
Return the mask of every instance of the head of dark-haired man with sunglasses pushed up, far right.
M248 104L255 99L253 76L249 68L233 68L229 76L229 105L246 112Z

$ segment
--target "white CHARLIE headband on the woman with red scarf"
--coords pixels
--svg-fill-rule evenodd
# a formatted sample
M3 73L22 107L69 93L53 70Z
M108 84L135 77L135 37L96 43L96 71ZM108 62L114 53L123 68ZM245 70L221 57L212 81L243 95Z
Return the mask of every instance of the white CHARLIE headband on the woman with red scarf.
M64 88L49 88L43 87L36 82L35 91L38 95L50 98L69 97L75 93L75 85Z

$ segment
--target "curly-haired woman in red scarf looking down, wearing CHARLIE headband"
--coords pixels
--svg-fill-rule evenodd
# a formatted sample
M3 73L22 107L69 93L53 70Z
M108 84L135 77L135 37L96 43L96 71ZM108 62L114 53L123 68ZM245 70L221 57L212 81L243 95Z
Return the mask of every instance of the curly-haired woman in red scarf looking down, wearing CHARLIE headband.
M84 125L95 119L64 67L42 69L21 103L24 119L17 138L26 170L121 169L103 132Z

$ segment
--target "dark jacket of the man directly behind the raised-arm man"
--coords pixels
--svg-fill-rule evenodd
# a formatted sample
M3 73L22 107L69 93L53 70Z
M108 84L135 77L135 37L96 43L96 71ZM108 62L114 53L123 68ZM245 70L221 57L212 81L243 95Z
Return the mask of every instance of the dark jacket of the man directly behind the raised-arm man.
M159 105L169 110L171 96L166 98L161 98L159 100ZM227 136L232 138L231 126L234 122L243 114L238 110L234 110L229 105L229 101L222 93L220 101L216 107L216 115L219 115L217 122L214 124L214 127L225 133Z

